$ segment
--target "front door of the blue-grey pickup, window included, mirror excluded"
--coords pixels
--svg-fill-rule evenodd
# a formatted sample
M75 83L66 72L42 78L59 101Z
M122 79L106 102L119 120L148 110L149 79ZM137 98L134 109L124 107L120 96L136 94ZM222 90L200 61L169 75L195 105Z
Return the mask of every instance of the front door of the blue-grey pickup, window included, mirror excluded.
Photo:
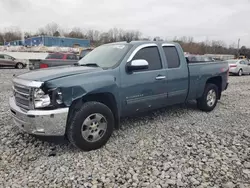
M156 44L144 44L137 47L128 59L146 60L148 69L128 72L121 70L122 115L148 111L164 106L167 100L166 70ZM124 68L126 69L126 67Z

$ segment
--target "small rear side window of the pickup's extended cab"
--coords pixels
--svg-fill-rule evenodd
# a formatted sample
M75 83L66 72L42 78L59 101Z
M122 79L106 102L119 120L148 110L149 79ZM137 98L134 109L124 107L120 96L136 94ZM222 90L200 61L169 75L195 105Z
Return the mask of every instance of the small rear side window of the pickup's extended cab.
M180 66L179 54L174 46L165 46L163 47L168 68L178 68Z

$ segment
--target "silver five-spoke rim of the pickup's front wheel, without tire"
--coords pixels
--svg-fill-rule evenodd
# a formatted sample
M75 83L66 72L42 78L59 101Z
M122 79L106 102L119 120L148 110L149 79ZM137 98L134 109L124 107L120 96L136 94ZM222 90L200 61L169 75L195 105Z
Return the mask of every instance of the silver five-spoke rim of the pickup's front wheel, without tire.
M82 137L87 142L96 142L104 136L107 126L108 122L102 114L91 114L83 121L81 127Z

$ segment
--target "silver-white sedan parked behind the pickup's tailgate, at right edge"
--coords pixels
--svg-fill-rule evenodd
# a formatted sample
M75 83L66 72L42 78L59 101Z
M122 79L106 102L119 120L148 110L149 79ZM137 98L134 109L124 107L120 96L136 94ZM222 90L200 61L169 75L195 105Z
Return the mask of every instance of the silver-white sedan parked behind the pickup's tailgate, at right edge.
M250 62L245 59L227 60L229 65L229 73L242 76L243 74L250 74Z

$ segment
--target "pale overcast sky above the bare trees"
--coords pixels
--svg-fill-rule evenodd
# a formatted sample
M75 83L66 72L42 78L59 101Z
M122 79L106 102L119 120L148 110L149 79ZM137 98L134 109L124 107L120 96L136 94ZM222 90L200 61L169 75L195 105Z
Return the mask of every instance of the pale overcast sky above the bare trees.
M250 47L250 0L0 0L0 27L140 30L144 36L192 36Z

